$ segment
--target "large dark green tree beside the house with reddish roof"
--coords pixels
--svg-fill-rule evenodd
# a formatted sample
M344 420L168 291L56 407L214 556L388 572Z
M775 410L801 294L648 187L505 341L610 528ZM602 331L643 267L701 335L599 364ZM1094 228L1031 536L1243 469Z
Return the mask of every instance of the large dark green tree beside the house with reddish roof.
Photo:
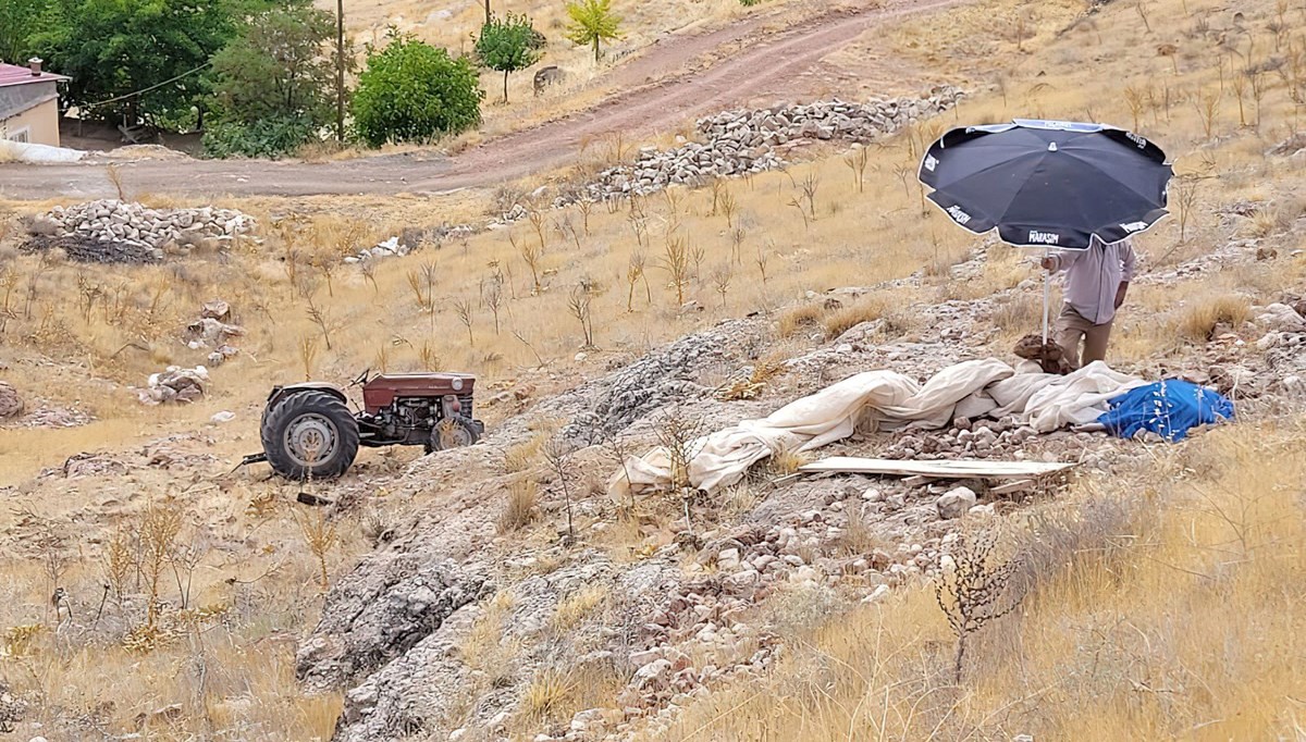
M193 125L192 107L209 93L200 72L236 33L234 3L54 0L31 47L50 69L72 77L64 102L88 118Z

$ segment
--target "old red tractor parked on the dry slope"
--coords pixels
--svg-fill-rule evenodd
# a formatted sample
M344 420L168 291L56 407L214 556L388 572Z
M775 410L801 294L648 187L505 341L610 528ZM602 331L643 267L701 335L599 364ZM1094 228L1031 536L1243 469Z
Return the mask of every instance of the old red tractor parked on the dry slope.
M263 453L291 479L340 477L359 445L422 445L427 453L471 445L485 423L471 417L475 378L469 374L383 374L368 371L351 385L363 388L363 410L349 411L345 389L325 381L273 387L263 410Z

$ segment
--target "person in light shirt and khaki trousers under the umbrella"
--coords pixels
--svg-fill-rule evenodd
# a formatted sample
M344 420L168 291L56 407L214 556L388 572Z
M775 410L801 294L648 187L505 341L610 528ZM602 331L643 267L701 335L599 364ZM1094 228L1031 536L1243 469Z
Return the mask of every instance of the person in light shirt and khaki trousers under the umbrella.
M1115 310L1124 303L1134 278L1132 240L1105 244L1094 236L1088 250L1060 250L1040 265L1053 273L1066 272L1066 304L1057 317L1055 340L1071 367L1105 359Z

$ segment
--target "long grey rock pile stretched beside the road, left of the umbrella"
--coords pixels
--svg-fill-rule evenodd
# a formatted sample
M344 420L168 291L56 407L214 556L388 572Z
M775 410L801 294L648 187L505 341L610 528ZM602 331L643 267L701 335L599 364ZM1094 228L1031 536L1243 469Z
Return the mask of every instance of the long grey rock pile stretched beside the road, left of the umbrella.
M669 150L641 148L633 163L599 172L579 197L605 200L714 176L772 170L784 165L781 152L803 142L870 141L947 111L960 97L961 91L944 86L922 98L872 99L866 103L833 99L722 111L697 121L704 141L686 142Z

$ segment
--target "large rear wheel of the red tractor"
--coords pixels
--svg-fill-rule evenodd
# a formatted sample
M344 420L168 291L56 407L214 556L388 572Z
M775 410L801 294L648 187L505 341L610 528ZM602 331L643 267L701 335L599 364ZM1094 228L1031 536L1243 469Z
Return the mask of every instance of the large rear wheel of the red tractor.
M358 421L328 392L283 397L265 411L260 436L268 462L291 479L340 477L358 455Z

